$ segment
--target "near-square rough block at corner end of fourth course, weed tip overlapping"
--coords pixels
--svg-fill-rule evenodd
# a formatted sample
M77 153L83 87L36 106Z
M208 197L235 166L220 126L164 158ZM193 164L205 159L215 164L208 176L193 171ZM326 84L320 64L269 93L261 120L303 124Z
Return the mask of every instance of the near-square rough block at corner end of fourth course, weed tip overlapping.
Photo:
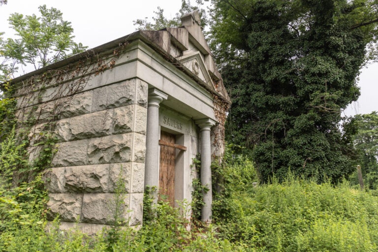
M108 192L115 192L118 183L123 183L126 192L130 192L130 181L131 162L110 164Z

